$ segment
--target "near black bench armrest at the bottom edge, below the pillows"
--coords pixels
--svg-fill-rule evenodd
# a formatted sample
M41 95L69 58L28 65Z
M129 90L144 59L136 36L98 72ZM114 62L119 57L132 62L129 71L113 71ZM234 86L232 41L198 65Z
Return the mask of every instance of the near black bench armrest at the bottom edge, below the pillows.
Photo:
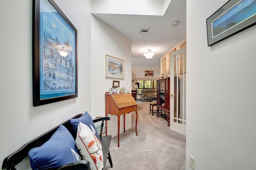
M90 162L87 160L78 160L69 164L63 165L57 170L89 170Z

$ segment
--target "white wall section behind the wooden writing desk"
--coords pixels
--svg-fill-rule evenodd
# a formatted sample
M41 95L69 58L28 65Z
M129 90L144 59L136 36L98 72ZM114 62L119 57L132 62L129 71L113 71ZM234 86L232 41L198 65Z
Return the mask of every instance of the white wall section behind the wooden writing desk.
M131 44L132 40L114 28L92 16L92 59L91 59L91 109L92 115L105 116L105 92L112 87L113 80L120 81L120 88L132 90L131 71ZM124 60L124 79L105 78L105 55ZM88 82L89 83L89 82ZM108 134L116 136L117 116L110 115ZM131 114L126 114L126 130L132 128ZM124 120L121 116L120 132L123 132Z

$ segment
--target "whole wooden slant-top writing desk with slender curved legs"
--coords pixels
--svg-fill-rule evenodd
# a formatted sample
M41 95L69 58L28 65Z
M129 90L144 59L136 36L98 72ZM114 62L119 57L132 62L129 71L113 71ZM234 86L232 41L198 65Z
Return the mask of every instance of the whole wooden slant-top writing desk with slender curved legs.
M132 95L129 93L126 94L105 94L105 115L116 115L117 116L117 126L118 126L118 147L119 147L119 135L120 135L120 116L124 115L124 132L125 132L125 114L136 112L136 126L135 131L137 133L137 121L138 121L138 112L137 112L137 103L133 99ZM107 125L107 122L106 122ZM108 126L107 126L108 127ZM106 135L108 135L108 130L106 129Z

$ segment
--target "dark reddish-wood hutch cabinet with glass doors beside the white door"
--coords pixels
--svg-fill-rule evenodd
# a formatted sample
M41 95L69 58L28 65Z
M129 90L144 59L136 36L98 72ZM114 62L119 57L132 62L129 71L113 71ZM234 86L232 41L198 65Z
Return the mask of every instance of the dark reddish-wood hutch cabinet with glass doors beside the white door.
M176 89L177 77L174 77L174 90ZM174 94L177 94L176 91ZM170 126L170 77L157 80L157 117L162 116ZM174 96L176 107L176 96ZM174 109L175 110L175 109Z

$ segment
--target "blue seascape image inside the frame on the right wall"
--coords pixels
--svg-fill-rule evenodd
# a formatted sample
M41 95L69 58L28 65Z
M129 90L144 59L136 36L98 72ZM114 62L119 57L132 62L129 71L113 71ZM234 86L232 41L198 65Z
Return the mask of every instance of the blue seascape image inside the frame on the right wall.
M212 22L213 38L256 15L256 0L240 0Z

